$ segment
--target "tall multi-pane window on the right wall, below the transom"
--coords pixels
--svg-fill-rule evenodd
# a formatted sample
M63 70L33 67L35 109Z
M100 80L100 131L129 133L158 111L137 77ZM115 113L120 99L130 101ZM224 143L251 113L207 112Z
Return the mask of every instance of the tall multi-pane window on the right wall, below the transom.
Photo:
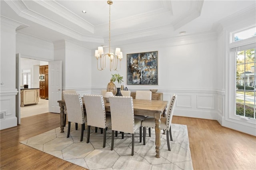
M256 49L236 52L236 115L255 119Z

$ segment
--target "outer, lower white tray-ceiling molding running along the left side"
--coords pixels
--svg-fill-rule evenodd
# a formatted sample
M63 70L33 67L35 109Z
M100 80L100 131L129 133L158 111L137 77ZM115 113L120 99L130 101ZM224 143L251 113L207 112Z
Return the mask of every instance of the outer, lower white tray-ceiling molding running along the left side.
M56 32L60 32L61 34L64 34L66 36L70 36L71 38L74 38L79 41L83 42L97 42L102 43L104 42L104 39L102 37L98 36L86 36L82 35L70 28L67 28L66 26L59 24L57 22L54 22L50 18L46 18L26 7L26 5L22 1L5 1L15 12L22 18L26 18L27 20L30 20L32 22L35 22L37 24L40 24L42 26L45 26L47 28L50 28Z

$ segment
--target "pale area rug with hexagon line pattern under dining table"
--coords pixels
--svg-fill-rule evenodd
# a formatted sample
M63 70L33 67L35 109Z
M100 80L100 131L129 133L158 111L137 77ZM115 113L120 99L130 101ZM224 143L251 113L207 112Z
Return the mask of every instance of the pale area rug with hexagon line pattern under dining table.
M111 146L111 128L106 134L106 147L103 145L103 134L96 133L91 128L90 142L86 143L87 127L84 131L83 141L80 142L80 129L75 130L71 124L70 137L67 138L67 127L64 133L60 128L52 129L20 143L51 154L89 170L192 170L192 160L188 142L186 125L172 124L171 151L168 151L166 135L161 134L161 158L156 158L155 131L151 129L151 137L146 137L146 145L139 142L139 132L136 132L134 156L132 151L132 135L125 134L124 139L120 133L115 137L114 150ZM80 126L79 126L80 127Z

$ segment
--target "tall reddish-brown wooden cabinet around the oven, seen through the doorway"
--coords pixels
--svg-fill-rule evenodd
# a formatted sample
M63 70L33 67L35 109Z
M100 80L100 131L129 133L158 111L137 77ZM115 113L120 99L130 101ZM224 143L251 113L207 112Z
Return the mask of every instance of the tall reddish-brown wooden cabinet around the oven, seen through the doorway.
M40 98L48 99L48 65L40 65L39 74L44 74L44 81L39 82Z

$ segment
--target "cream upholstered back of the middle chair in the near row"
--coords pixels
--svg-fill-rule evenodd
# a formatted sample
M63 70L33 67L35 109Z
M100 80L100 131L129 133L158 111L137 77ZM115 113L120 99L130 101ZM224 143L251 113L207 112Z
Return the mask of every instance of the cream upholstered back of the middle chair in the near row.
M102 95L84 95L87 125L106 128L106 112Z

